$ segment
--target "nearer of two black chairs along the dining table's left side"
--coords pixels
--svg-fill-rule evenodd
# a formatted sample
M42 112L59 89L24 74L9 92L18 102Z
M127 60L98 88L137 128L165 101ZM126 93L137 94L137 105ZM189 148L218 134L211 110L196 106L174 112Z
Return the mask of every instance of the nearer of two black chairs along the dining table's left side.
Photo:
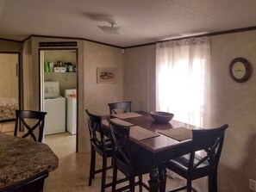
M135 186L139 185L140 192L144 187L149 191L146 183L143 183L142 176L147 174L152 169L147 159L134 155L131 151L130 143L130 127L116 124L109 119L110 139L114 148L113 159L113 181L112 192L123 191L129 189L129 192L134 192ZM122 188L116 189L117 170L120 170L128 179L129 184ZM139 180L135 182L135 177Z

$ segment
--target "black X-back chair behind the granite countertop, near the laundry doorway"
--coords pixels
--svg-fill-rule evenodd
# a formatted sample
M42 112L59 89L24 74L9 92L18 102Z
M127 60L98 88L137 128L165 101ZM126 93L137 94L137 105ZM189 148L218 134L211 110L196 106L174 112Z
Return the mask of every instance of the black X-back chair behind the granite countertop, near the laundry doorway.
M47 112L42 111L31 111L31 110L16 110L16 126L14 136L17 136L19 127L24 126L24 135L22 138L31 136L34 141L41 142L44 126L45 126L45 116ZM31 126L31 124L33 126ZM38 137L35 136L34 132L38 129Z

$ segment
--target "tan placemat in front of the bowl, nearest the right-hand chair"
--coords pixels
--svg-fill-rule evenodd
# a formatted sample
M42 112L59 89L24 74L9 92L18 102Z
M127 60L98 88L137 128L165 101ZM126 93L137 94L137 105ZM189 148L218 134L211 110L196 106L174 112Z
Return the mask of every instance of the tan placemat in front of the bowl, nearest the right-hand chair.
M159 133L164 134L165 136L170 137L172 139L176 139L178 141L192 138L192 130L187 129L185 127L166 129L163 131L159 131Z

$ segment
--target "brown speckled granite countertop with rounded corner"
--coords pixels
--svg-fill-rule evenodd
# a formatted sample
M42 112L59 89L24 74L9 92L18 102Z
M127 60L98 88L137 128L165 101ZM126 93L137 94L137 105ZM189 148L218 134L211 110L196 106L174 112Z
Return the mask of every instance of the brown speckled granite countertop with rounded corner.
M0 188L58 168L59 158L49 146L0 133Z

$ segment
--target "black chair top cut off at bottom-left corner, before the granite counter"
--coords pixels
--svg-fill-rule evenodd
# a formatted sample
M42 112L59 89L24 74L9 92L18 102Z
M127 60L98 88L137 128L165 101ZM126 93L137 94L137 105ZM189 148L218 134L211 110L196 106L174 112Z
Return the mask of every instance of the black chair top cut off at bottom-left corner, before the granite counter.
M44 182L47 177L48 171L44 170L33 177L3 187L0 192L43 192Z

